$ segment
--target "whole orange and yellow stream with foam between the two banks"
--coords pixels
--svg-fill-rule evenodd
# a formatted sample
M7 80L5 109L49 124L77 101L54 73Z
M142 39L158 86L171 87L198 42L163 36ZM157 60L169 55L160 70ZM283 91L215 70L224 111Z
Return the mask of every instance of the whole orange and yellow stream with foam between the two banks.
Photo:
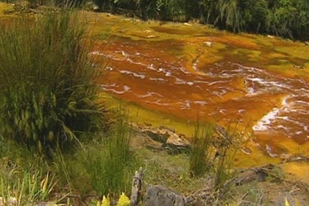
M96 34L113 35L92 53L108 60L104 91L176 119L237 122L270 157L309 154L308 47L202 25L104 18Z

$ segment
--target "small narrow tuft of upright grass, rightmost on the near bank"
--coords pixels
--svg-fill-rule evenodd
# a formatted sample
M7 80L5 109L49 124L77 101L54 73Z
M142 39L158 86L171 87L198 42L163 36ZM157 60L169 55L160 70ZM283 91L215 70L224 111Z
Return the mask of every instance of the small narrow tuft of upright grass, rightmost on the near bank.
M197 122L192 137L192 152L190 154L189 170L192 176L203 176L212 166L211 142L214 135L214 124Z

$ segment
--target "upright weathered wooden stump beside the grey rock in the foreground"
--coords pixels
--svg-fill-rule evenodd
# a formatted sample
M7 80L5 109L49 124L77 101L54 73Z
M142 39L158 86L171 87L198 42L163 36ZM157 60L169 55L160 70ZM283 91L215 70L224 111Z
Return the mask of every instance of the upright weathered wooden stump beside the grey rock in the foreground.
M141 199L141 184L143 177L143 169L139 168L139 171L135 171L135 176L133 176L132 189L130 196L130 206L136 206Z

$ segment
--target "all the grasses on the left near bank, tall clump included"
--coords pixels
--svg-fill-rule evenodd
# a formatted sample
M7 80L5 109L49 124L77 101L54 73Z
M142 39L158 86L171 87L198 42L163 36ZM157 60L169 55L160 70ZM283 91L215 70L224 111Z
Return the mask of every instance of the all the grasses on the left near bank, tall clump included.
M128 123L99 101L103 73L81 19L65 8L0 21L0 205L130 188Z

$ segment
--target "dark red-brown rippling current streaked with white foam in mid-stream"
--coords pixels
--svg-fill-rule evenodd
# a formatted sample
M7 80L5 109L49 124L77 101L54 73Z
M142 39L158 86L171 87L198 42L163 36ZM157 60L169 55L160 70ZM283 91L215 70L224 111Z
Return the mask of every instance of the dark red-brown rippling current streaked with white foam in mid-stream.
M165 45L147 47L126 42L113 44L109 51L92 52L109 58L113 66L111 72L117 76L112 78L111 84L102 85L103 89L120 97L126 93L123 96L128 100L146 103L149 108L159 108L163 112L173 111L174 115L185 118L194 118L198 112L207 111L222 119L236 114L238 119L248 121L247 116L251 115L248 113L253 113L256 124L253 125L252 119L249 121L255 133L309 138L309 84L306 80L224 60L205 69L201 68L203 64L198 58L185 62L183 56L164 52L163 46L165 48ZM281 102L277 102L277 97L283 95ZM263 104L267 105L263 107ZM264 149L273 154L275 150L271 148L274 146Z

